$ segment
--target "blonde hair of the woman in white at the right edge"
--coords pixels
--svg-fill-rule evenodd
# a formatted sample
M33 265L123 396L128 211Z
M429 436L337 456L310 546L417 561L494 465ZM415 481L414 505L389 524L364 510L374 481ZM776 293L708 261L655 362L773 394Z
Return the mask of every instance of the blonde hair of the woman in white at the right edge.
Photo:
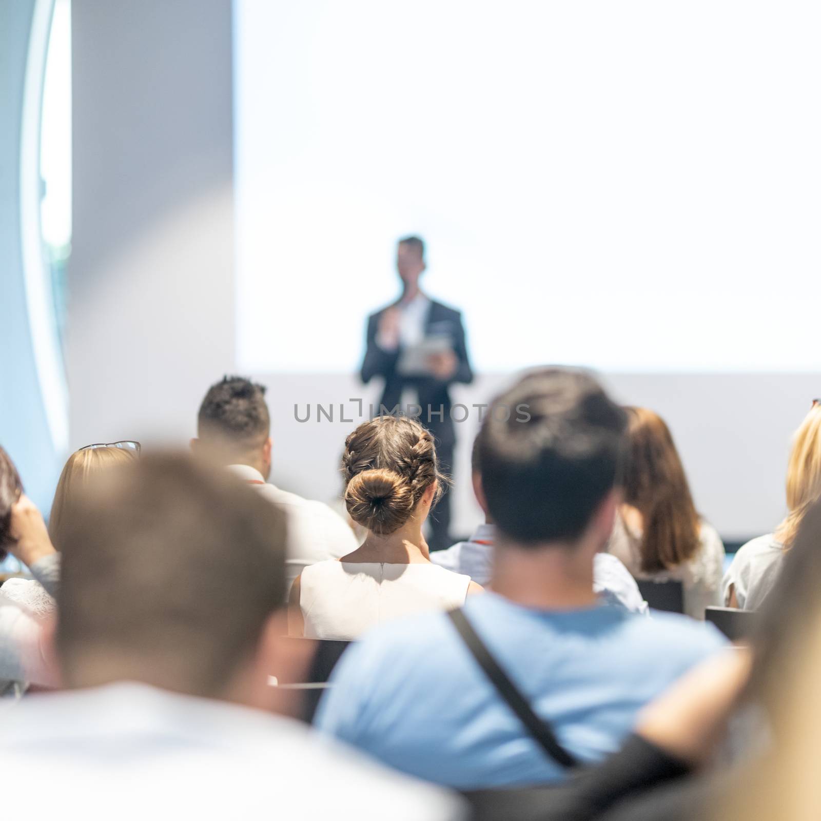
M789 548L808 508L821 498L821 406L810 409L792 438L787 465L787 517L776 538Z

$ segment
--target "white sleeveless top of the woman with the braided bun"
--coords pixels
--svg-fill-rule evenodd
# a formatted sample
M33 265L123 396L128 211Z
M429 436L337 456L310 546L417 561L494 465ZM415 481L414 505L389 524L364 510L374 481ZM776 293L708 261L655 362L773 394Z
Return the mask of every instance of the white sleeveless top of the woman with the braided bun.
M353 640L383 621L458 608L468 585L470 576L427 563L319 562L300 580L305 637Z

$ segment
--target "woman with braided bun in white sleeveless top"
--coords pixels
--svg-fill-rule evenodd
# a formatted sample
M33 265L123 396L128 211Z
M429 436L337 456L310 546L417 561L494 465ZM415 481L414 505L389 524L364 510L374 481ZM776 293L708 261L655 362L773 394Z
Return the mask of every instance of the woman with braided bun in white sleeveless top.
M291 589L291 634L356 639L383 621L461 607L482 588L430 561L422 525L447 479L433 436L404 416L378 416L346 439L345 504L367 530L341 559L306 567Z

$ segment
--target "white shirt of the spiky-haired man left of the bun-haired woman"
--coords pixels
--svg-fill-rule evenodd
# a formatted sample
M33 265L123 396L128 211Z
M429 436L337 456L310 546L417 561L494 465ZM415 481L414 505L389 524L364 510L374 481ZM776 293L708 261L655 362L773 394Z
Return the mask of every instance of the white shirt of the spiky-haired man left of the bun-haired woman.
M347 522L323 502L314 502L280 490L263 479L259 470L248 465L231 465L228 470L259 488L259 493L287 516L286 558L287 589L305 567L325 559L338 559L353 553L357 544Z

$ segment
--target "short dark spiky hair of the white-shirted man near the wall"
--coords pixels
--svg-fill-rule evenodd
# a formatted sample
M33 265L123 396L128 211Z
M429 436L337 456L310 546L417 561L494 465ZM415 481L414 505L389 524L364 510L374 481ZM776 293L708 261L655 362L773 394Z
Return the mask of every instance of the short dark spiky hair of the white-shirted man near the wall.
M254 445L268 436L271 417L264 385L242 376L223 376L213 384L200 405L197 435L223 443Z

